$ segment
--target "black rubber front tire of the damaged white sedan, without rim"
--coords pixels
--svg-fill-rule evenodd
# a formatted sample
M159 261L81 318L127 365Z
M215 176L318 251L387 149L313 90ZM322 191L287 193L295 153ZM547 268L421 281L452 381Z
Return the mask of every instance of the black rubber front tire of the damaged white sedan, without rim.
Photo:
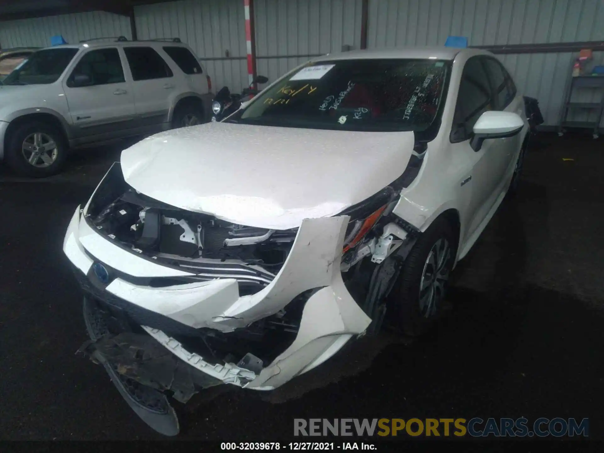
M391 303L397 308L400 315L400 326L406 335L417 336L426 332L436 320L440 318L443 312L443 299L445 298L447 281L442 278L436 278L439 282L430 290L440 297L435 297L434 309L427 309L420 301L420 285L422 284L422 276L426 267L426 277L429 277L429 269L431 265L426 265L432 249L439 243L443 244L442 240L448 244L448 254L445 251L443 259L443 268L447 271L447 279L455 262L457 254L457 235L454 229L445 217L436 219L429 226L411 249L399 275L398 289L394 292ZM440 241L440 242L439 242ZM425 301L425 298L424 300Z

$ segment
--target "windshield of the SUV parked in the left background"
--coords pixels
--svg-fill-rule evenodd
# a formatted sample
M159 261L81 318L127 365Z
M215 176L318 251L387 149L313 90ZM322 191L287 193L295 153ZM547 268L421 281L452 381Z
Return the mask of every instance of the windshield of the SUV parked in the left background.
M3 85L34 85L56 82L77 54L77 48L39 50L8 74Z

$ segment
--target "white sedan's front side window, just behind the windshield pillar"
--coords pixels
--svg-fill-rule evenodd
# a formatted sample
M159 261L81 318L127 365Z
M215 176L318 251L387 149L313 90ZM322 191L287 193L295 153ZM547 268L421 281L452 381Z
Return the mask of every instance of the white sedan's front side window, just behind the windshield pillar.
M451 143L468 140L478 117L487 110L493 110L489 78L480 57L472 57L467 60L461 74Z

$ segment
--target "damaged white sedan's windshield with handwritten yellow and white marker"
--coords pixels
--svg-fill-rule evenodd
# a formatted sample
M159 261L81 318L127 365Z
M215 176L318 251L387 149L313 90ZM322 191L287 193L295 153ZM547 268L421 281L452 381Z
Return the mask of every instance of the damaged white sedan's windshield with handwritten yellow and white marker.
M309 63L226 121L312 129L426 130L440 116L449 63L359 59Z

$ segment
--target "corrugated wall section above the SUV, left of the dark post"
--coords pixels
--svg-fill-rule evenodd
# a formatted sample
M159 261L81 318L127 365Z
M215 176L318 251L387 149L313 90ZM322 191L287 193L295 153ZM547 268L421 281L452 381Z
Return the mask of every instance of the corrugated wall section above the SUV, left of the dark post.
M0 22L0 45L4 49L48 47L50 37L57 34L69 43L103 36L132 39L129 18L104 11Z

